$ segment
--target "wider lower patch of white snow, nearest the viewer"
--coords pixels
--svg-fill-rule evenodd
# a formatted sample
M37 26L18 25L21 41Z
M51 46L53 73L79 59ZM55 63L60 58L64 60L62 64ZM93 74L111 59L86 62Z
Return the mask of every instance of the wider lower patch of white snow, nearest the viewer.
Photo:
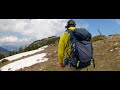
M45 56L46 56L46 53L37 54L37 55L31 56L31 57L21 59L19 61L15 61L13 63L7 64L7 65L3 66L0 70L1 71L15 71L15 70L19 70L24 67L29 67L36 63L47 61L48 58L44 58Z

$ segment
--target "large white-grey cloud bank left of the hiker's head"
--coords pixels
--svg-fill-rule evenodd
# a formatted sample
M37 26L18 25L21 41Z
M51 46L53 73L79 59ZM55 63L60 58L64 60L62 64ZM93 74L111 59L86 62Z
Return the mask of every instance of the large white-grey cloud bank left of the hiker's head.
M68 19L0 19L0 44L21 45L60 35Z

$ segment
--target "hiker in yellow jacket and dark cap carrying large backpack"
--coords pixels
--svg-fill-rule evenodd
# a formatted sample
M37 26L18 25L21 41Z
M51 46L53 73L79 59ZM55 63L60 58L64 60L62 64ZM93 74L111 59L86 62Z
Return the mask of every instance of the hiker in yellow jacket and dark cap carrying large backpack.
M89 66L89 64L91 63L92 57L93 57L92 56L92 53L93 53L92 52L92 49L93 49L92 43L90 43L91 34L89 32L87 32L87 30L85 30L85 29L79 30L78 28L76 28L76 23L73 20L69 20L67 22L67 25L65 26L65 28L67 30L60 36L59 45L58 45L58 61L59 61L60 66L62 68L70 67L71 70L79 70L79 69L81 69L81 67L80 67L81 65L83 66L82 68ZM75 34L74 36L73 36L73 32ZM82 34L81 34L81 32L82 32ZM84 34L86 34L86 35L84 35ZM87 36L87 38L86 38L86 36ZM77 40L77 39L73 40L73 37L74 38L77 37L79 40ZM85 39L85 41L83 42L83 44L84 44L83 46L85 46L85 44L86 44L85 48L89 49L89 47L90 47L90 49L89 49L90 51L87 51L87 49L85 49L83 46L80 46L79 43L76 43L78 41L83 41L81 39L81 37L82 38L84 37L84 39ZM88 55L88 56L85 56L85 58L86 58L85 61L87 62L87 64L84 62L82 63L82 61L80 61L80 60L82 60L81 58L84 58L84 57L82 57L80 54L75 55L75 52L73 50L73 48L74 48L73 41L76 41L75 45L79 46L79 47L77 46L78 47L77 54L82 51L80 49L83 47L83 49L84 49L83 53L85 55ZM82 42L81 42L81 45L82 45ZM78 59L80 59L80 60L78 60Z

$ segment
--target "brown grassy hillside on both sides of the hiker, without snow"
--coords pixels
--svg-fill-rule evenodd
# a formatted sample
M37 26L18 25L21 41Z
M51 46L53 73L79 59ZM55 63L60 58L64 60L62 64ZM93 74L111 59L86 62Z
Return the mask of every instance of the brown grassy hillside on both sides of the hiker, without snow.
M105 40L93 42L96 68L91 65L88 71L120 71L120 35L109 35ZM47 62L21 69L22 71L69 71L61 69L57 59L57 44L44 50L48 52ZM82 71L86 71L83 69Z

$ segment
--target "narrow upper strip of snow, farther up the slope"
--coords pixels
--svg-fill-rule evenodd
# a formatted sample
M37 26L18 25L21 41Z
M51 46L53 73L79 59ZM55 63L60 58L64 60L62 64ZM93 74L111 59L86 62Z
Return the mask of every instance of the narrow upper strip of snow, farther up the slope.
M32 54L34 54L34 53L43 51L43 50L44 50L45 48L47 48L47 47L48 47L48 46L44 46L44 47L38 48L37 50L32 50L32 51L28 51L28 52L16 54L16 55L13 55L13 56L9 56L9 57L6 57L6 58L1 59L0 61L2 61L2 60L4 60L4 59L7 59L7 60L9 60L9 61L12 61L12 60L21 58L21 57L23 57L23 56L28 56L28 55L32 55Z

